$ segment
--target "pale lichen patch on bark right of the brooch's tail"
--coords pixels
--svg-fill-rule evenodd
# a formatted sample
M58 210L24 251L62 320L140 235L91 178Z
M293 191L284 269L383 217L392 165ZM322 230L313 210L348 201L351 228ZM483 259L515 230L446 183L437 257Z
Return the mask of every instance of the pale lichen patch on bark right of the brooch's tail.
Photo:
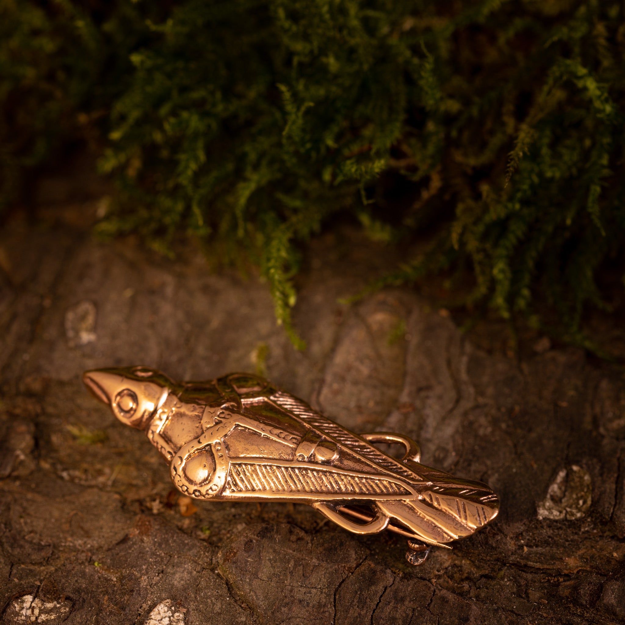
M547 496L537 505L539 519L581 519L592 502L592 481L589 473L573 464L557 472L549 484Z

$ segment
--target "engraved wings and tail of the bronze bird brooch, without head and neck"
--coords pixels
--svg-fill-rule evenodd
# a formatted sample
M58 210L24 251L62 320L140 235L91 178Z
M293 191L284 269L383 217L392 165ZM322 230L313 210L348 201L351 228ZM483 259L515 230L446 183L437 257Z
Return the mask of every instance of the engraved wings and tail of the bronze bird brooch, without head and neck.
M237 375L235 386L232 378L222 392L234 391L239 401L207 407L204 433L172 461L174 483L184 492L299 500L350 531L378 532L392 520L431 544L469 536L496 516L499 502L485 484L394 459L301 399L261 381L252 386L251 377L242 388ZM337 512L354 504L372 507L374 518L362 525Z

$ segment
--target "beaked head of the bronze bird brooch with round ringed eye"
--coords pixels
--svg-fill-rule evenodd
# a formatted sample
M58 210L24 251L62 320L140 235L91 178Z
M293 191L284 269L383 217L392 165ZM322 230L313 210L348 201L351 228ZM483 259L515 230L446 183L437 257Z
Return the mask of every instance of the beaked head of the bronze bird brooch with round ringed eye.
M175 386L161 372L142 366L91 369L84 372L83 381L119 421L136 429L148 427Z

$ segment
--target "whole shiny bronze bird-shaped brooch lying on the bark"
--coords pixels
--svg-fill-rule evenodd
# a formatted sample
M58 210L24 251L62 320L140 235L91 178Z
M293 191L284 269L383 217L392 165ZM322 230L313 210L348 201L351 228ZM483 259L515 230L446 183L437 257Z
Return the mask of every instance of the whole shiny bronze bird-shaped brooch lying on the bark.
M354 434L262 377L174 382L123 367L87 371L84 382L119 421L146 432L175 486L196 499L306 503L356 534L407 536L413 564L497 516L486 484L421 464L409 437ZM375 442L406 453L398 460Z

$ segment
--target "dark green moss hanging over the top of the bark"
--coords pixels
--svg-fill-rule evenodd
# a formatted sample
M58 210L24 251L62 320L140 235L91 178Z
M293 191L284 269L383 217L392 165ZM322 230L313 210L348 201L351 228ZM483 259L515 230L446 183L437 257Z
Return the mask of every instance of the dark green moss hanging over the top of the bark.
M574 339L587 303L609 307L601 267L623 268L624 11L0 0L0 194L98 128L120 189L99 231L244 252L298 346L297 249L339 213L389 244L434 233L375 287L456 270L464 302L547 301Z

